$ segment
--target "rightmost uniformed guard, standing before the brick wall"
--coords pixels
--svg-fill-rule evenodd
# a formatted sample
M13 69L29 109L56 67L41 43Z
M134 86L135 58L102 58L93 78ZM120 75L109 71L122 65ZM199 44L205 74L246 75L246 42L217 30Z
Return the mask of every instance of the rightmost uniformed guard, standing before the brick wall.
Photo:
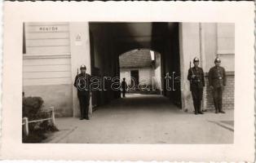
M220 66L220 63L221 60L217 57L214 60L215 66L209 71L209 86L214 96L215 113L225 113L223 111L223 90L227 79L225 69Z

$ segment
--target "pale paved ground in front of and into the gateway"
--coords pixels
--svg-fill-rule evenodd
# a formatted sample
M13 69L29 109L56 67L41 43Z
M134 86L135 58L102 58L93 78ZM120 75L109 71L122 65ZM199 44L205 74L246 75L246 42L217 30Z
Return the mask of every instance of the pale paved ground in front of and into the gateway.
M233 143L233 110L183 112L161 95L128 95L99 107L90 121L56 118L46 143Z

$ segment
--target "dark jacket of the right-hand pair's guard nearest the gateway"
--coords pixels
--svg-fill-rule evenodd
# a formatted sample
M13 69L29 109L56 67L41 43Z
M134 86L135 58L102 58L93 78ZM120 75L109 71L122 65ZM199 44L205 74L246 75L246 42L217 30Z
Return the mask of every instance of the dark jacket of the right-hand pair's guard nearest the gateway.
M195 75L196 77L192 77ZM192 88L203 88L205 86L205 74L202 68L193 67L188 69L188 80L190 81L190 90Z

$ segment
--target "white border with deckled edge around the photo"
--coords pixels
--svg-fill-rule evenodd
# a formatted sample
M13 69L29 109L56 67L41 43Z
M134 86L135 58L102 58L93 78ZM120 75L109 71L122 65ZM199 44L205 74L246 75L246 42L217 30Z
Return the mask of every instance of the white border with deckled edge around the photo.
M4 2L3 5L2 159L254 161L254 2ZM22 24L36 21L235 23L234 143L22 143Z

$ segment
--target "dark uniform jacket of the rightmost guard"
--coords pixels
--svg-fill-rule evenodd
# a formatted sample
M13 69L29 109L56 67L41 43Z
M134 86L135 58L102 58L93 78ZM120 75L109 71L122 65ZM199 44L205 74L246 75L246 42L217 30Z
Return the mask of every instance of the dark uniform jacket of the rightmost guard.
M209 71L209 86L214 86L214 88L218 88L220 86L226 86L226 72L225 68L220 66L214 66L210 68Z

